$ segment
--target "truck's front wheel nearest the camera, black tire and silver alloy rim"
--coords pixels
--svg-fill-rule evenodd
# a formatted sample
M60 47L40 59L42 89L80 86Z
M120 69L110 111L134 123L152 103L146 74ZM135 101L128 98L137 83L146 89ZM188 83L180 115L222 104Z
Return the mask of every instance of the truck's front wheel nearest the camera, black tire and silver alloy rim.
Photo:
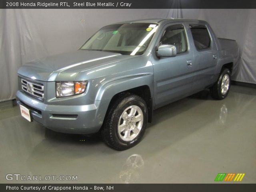
M134 94L123 94L110 109L101 130L108 146L126 150L138 144L148 122L146 102Z

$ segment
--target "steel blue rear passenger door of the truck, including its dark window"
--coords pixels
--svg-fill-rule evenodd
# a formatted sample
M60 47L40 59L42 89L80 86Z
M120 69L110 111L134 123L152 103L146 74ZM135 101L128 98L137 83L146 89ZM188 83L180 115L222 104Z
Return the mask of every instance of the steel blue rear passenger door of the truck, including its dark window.
M194 50L193 91L198 92L213 83L217 64L217 46L210 28L204 23L190 24Z

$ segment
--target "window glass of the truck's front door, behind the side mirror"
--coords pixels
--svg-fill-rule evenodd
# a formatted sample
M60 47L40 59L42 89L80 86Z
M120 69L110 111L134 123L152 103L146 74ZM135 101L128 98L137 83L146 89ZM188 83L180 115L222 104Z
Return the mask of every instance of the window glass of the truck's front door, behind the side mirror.
M167 27L159 45L174 45L176 46L177 54L186 52L187 40L184 26L182 24L177 24Z

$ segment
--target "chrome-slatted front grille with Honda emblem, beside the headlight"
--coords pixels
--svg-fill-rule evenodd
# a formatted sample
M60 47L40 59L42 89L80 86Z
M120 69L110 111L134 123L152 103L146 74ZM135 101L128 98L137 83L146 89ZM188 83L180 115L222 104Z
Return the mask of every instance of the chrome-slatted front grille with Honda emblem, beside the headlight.
M36 98L39 98L41 100L44 99L44 86L42 84L21 79L21 86L22 90L24 90L25 92L36 96Z

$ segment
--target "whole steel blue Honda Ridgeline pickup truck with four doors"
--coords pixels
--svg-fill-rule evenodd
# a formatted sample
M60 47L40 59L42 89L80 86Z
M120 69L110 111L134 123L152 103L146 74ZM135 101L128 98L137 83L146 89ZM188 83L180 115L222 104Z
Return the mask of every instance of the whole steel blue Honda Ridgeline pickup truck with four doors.
M154 109L210 89L224 99L236 70L236 41L201 20L150 19L101 28L76 51L18 70L21 114L57 132L101 132L106 144L138 144Z

